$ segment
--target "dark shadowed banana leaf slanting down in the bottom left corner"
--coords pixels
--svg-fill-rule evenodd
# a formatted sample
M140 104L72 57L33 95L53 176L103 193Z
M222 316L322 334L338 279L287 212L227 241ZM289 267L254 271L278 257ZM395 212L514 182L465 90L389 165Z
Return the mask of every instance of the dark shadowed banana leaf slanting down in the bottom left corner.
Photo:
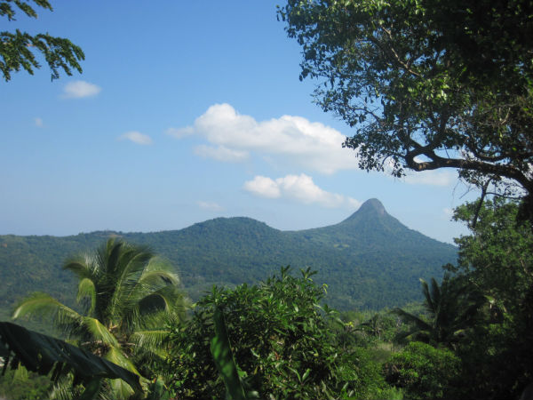
M74 381L83 382L91 391L102 378L121 379L136 392L142 392L138 375L66 341L29 331L20 325L0 322L0 344L0 348L14 354L13 367L20 362L29 371L42 375L52 371L52 378L72 371ZM7 364L6 360L4 368Z

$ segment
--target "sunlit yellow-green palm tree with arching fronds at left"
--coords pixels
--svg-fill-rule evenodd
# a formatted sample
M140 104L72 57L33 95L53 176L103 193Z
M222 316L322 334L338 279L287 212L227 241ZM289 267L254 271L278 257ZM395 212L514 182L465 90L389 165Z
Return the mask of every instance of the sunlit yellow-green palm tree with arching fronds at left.
M187 300L178 275L146 247L115 238L94 253L67 260L63 268L79 280L81 312L36 292L20 302L13 318L52 316L69 340L142 376L139 361L162 354L164 322L185 317ZM108 383L116 398L133 393L123 380Z

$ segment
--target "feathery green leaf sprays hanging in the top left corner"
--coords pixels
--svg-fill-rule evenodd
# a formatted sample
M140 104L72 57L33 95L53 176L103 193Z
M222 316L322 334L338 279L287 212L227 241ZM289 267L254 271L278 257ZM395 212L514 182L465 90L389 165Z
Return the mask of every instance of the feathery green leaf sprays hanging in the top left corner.
M52 11L52 5L48 0L2 0L0 16L13 21L18 8L28 17L37 18L36 10L29 4L30 2ZM12 78L13 71L25 69L33 75L34 68L41 68L34 51L44 56L44 60L52 70L52 80L60 77L60 69L68 76L72 75L72 69L82 72L79 61L85 59L84 52L70 40L47 33L31 36L19 29L15 32L0 31L0 71L6 82Z

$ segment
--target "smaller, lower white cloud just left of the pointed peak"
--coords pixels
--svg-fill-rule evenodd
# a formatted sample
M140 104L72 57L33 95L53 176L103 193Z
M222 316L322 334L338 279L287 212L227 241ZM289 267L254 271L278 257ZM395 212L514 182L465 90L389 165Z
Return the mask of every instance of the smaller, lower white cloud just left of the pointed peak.
M256 176L244 183L243 188L254 196L267 198L289 198L303 204L319 204L329 208L357 208L361 202L352 197L330 193L314 184L313 178L301 173L287 175L273 180L265 176Z

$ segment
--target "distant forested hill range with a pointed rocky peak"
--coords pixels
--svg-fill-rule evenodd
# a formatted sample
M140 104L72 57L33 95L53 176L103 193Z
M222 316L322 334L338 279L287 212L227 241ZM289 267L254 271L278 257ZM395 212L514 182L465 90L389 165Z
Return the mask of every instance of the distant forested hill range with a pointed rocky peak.
M218 218L155 232L93 232L77 236L0 236L0 310L27 292L51 292L72 303L75 281L61 269L76 252L91 251L109 236L148 244L175 266L189 295L213 284L253 283L281 266L311 267L328 284L336 308L383 308L420 299L419 278L442 276L457 248L405 227L370 199L342 222L324 228L281 231L250 218ZM0 316L2 316L0 314Z

